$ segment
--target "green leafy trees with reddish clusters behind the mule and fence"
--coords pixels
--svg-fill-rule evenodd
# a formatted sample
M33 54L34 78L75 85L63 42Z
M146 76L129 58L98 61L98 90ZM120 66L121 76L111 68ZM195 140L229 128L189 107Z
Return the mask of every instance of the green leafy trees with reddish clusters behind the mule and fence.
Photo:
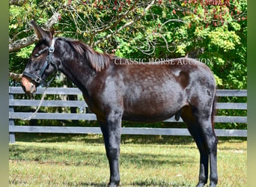
M219 89L247 87L246 0L12 0L9 8L10 73L22 73L30 57L37 38L28 22L34 19L59 37L82 40L99 52L123 58L197 58L213 70ZM17 80L9 79L10 85L19 85ZM60 73L51 86L73 84ZM246 102L246 98L220 99ZM218 114L246 116L246 111ZM219 126L227 128L225 123Z

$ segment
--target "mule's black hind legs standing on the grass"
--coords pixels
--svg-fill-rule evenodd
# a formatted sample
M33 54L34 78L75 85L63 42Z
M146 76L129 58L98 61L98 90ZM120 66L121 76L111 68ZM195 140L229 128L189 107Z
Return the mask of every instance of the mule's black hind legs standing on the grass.
M188 105L183 108L181 117L194 138L200 153L200 169L197 186L204 186L207 183L209 156L210 186L216 186L218 181L216 164L217 138L213 132L210 115L205 117L198 108Z

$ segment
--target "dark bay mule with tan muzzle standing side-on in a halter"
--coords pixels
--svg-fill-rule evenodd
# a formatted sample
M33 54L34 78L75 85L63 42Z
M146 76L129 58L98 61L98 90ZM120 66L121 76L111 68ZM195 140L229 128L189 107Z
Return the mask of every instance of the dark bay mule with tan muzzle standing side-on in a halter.
M56 70L83 93L97 115L109 159L109 186L119 186L121 120L156 122L182 117L200 152L198 186L216 186L217 138L213 129L216 85L213 73L191 58L136 64L95 52L85 43L53 37L31 22L39 43L24 70L22 88L34 93Z

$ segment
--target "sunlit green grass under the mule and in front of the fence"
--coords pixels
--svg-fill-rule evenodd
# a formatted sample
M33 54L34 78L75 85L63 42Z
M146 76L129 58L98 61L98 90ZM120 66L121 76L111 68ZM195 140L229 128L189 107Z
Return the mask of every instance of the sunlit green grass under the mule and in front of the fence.
M219 186L246 186L247 141L222 138ZM122 186L195 186L199 154L190 137L123 136ZM106 186L109 165L101 135L16 135L10 186ZM209 184L209 183L208 183Z

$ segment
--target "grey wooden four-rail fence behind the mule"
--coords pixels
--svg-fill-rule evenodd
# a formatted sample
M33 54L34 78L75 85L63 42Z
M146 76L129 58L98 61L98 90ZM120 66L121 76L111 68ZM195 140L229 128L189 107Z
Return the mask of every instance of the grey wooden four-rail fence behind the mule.
M43 94L44 88L38 88L36 94ZM77 133L100 134L100 127L81 127L81 126L15 126L15 119L29 117L32 112L14 111L16 106L37 106L40 99L14 99L15 94L24 94L20 87L9 88L9 133L10 143L15 142L15 132L40 132L40 133ZM82 95L78 88L48 88L46 94L53 95ZM247 96L246 90L217 90L216 95L221 96ZM88 107L84 100L43 100L42 106L46 107ZM217 109L239 109L247 110L247 103L241 102L217 102ZM38 112L32 119L37 120L96 120L95 114L85 113L42 113ZM177 122L171 117L166 122ZM179 120L178 122L183 122ZM247 117L241 116L216 116L216 123L247 123ZM126 135L189 135L187 129L180 128L135 128L123 127L122 134ZM216 129L218 136L237 136L246 137L247 130L239 129Z

